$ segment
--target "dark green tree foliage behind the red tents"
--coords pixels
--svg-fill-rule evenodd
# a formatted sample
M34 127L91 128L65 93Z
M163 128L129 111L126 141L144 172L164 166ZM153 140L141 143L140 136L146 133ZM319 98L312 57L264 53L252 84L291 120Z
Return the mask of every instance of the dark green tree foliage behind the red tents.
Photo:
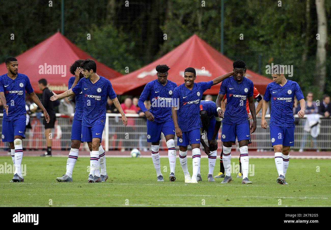
M331 94L331 32L325 46L326 84L321 88L316 82L315 0L282 0L281 7L277 0L225 0L224 7L226 56L243 59L249 69L267 77L266 65L293 65L291 79L300 84L304 93L313 91L315 98ZM331 1L324 2L324 9L330 31ZM125 67L130 71L138 69L193 33L220 50L221 0L65 0L64 11L64 35L123 74ZM1 1L0 12L1 62L61 28L60 0ZM10 39L12 33L15 40ZM88 33L91 40L86 39Z

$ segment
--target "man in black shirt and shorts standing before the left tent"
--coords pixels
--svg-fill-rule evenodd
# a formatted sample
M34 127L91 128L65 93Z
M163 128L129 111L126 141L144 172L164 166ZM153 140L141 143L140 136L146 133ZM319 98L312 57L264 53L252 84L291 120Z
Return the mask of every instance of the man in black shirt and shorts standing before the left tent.
M45 107L47 113L49 114L50 121L49 123L46 123L46 120L44 118L44 125L45 125L45 138L46 138L46 144L47 144L47 152L41 156L50 157L52 156L52 128L54 128L54 123L56 121L55 116L55 110L54 107L56 106L54 101L49 100L53 93L51 90L47 87L47 80L45 78L42 78L38 81L39 89L42 90L42 96L41 96L41 103Z

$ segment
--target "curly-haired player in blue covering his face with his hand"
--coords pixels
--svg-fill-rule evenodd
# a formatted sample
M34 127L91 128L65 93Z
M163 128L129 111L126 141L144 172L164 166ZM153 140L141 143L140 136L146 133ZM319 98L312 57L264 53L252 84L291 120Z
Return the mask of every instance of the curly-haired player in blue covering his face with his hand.
M68 89L72 89L75 85L77 85L78 81L83 78L83 74L81 73L80 64L84 60L79 59L75 61L71 67L70 72L74 76L69 78L68 81ZM69 100L72 100L73 96L68 97ZM59 182L72 182L72 171L73 167L78 159L78 151L81 143L82 137L82 119L83 119L83 109L84 109L84 101L83 94L80 92L79 94L75 94L75 114L73 116L72 127L71 127L71 150L69 152L68 160L67 160L67 171L61 177L57 177L56 180ZM89 146L91 148L91 146ZM91 153L90 153L91 154ZM106 154L105 150L102 148L101 144L99 146L99 162L101 168L101 181L105 182L108 179L107 171L106 171ZM99 168L96 169L98 172ZM98 174L98 173L96 173ZM99 182L99 181L98 181Z

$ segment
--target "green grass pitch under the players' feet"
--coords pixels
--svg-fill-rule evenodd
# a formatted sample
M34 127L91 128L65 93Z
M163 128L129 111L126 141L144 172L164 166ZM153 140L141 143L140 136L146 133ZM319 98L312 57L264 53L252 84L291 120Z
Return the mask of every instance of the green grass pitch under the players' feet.
M4 168L5 162L13 163L10 156L0 157L0 167ZM203 181L198 184L184 183L178 158L175 182L168 181L167 158L161 158L165 182L156 181L150 158L107 158L108 180L103 183L87 183L87 157L80 157L76 162L73 182L57 182L55 178L66 172L66 162L66 157L24 157L22 163L26 164L27 174L22 183L9 183L13 174L0 170L0 207L47 207L49 199L52 199L54 207L331 206L331 160L290 159L286 173L288 185L276 183L274 159L250 159L255 169L254 176L249 176L253 182L251 185L241 184L241 178L236 178L234 173L233 181L228 184L220 183L223 178L208 182L207 158L201 159ZM237 164L238 159L232 159L232 162ZM168 172L163 172L164 166ZM320 172L316 172L316 166L319 166ZM192 158L188 158L188 169L192 175ZM217 158L214 175L218 169ZM279 199L281 205L278 205Z

